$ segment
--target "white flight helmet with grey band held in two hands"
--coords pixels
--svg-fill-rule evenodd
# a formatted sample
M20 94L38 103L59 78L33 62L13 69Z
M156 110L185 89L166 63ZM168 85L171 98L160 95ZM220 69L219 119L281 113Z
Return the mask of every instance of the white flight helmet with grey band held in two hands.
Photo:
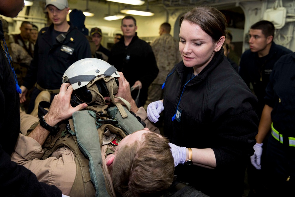
M109 63L97 58L76 61L63 74L63 83L70 83L73 93L84 103L105 105L104 97L111 97L118 91L120 75Z

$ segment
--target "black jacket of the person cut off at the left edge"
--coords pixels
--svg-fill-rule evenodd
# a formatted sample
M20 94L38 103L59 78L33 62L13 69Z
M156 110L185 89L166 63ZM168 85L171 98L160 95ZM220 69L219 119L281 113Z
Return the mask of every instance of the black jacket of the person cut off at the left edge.
M0 20L0 39L4 39ZM1 196L62 196L55 186L40 183L35 174L10 160L19 135L19 93L13 72L0 51L0 191Z

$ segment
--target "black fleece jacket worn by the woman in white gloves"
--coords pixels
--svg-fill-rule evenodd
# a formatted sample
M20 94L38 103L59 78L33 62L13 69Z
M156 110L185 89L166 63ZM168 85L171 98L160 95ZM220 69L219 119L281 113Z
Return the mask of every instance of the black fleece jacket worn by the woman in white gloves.
M213 149L217 167L212 170L178 165L175 173L208 196L223 192L226 196L239 196L258 133L254 112L257 99L224 58L223 49L186 84L192 73L193 68L181 61L168 74L164 87L164 135L178 146ZM171 120L177 106L181 110L180 122Z

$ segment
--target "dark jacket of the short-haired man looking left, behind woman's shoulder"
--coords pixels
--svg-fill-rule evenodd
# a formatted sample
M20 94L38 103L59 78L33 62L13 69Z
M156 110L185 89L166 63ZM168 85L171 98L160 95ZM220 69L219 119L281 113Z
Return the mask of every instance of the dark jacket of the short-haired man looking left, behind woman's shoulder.
M273 66L281 56L288 53L292 53L292 51L272 42L269 53L265 57L259 58L258 53L253 53L250 49L241 56L239 74L248 87L250 87L250 82L253 85L253 90L258 98L258 116L261 115L265 105L265 89Z

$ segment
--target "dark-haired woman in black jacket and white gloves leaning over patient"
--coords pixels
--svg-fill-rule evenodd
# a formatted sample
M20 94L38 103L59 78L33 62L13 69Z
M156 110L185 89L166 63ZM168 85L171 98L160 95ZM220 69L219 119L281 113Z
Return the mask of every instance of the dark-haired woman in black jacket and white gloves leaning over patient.
M164 110L175 165L184 164L175 170L179 180L211 197L242 196L258 132L257 99L224 57L221 12L196 7L179 24L183 61L168 73L164 99L148 106L148 117L156 122Z

